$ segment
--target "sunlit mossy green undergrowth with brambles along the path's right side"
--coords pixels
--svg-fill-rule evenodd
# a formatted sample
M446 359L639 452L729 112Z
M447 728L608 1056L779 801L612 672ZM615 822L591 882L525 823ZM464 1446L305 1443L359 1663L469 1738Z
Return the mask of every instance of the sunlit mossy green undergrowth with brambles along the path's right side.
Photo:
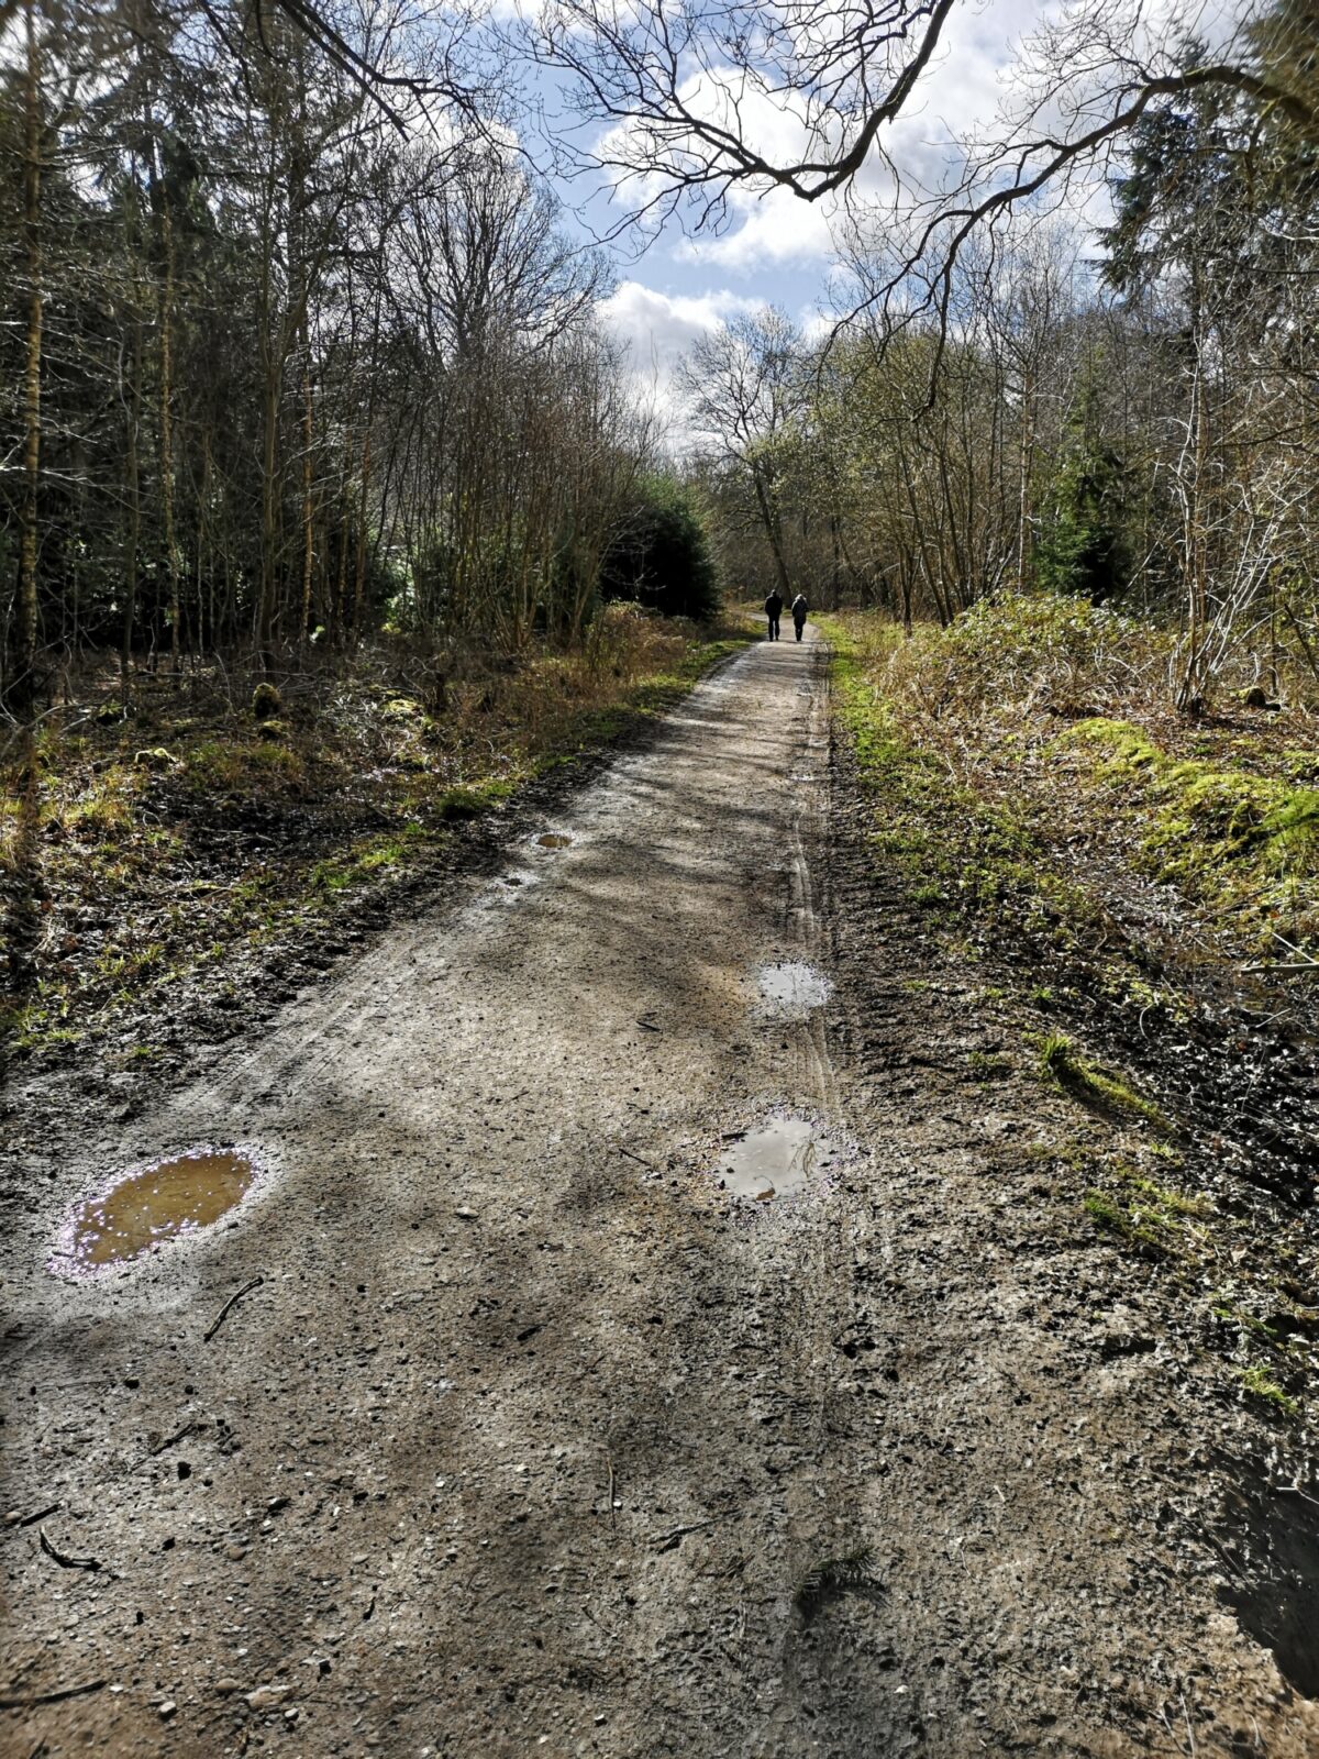
M825 619L825 633L835 716L876 807L878 864L902 876L944 948L971 943L1022 967L1022 999L1043 1017L1036 1071L1090 1113L1071 1163L1080 1238L1141 1259L1201 1316L1212 1347L1238 1358L1240 1388L1294 1414L1308 1354L1289 1340L1319 1337L1307 1224L1266 1198L1224 1194L1212 1115L1185 1110L1178 1071L1157 1055L1185 1043L1199 1013L1178 938L1196 971L1206 948L1217 953L1229 994L1263 946L1293 957L1277 936L1314 945L1314 705L1178 721L1162 705L1168 639L1075 602L981 605L911 637L851 614ZM1129 897L1141 909L1115 915ZM1148 918L1154 945L1141 939ZM1101 1022L1126 1054L1148 1047L1150 1084L1180 1092L1185 1136L1143 1084L1078 1048L1062 1031L1073 1020ZM983 1059L971 1066L987 1073ZM1221 1078L1235 1078L1231 1064Z

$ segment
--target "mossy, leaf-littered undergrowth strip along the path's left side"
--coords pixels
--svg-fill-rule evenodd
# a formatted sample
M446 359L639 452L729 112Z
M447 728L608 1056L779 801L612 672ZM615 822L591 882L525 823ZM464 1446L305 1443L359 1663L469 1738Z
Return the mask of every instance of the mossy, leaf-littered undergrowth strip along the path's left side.
M5 1048L65 1054L167 1010L236 952L324 932L455 823L663 712L747 635L616 605L584 653L468 660L441 690L396 644L278 690L220 668L146 675L128 716L113 670L88 675L32 765L11 744L0 774L0 890L9 925L32 923L0 999Z

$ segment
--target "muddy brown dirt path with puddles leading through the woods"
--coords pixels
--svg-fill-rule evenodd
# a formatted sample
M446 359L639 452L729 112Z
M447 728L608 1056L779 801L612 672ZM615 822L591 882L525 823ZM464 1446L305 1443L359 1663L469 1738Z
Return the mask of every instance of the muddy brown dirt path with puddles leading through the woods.
M980 978L828 804L823 649L749 649L501 880L49 1168L4 1504L102 1569L9 1529L0 1687L107 1683L5 1752L1314 1750L1173 1506L1228 1483L1194 1376L1057 1231L1066 1103L966 1078ZM839 989L793 1018L756 971L797 959ZM804 1196L730 1200L786 1113ZM230 1224L46 1274L107 1166L208 1140L269 1168Z

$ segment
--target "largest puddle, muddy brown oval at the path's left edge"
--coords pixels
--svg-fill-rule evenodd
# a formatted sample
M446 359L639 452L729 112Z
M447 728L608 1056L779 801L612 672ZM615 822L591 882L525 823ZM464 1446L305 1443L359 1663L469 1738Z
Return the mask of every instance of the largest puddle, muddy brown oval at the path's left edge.
M123 1265L162 1240L209 1228L246 1196L255 1177L257 1168L237 1149L195 1149L157 1161L83 1203L56 1259L72 1259L74 1270Z

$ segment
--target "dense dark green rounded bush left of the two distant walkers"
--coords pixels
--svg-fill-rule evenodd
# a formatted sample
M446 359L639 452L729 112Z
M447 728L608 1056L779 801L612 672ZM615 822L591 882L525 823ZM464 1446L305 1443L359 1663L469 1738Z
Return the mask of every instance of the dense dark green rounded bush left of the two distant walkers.
M626 598L667 617L712 617L719 577L691 494L672 477L651 477L600 568L603 598Z

